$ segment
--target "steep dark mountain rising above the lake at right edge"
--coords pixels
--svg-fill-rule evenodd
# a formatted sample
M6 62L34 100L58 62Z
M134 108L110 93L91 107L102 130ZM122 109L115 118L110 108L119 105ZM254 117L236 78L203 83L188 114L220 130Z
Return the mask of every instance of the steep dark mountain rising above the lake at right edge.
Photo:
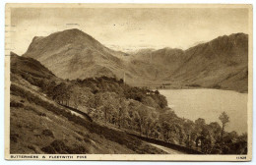
M185 51L185 58L169 81L247 90L248 35L221 36Z

